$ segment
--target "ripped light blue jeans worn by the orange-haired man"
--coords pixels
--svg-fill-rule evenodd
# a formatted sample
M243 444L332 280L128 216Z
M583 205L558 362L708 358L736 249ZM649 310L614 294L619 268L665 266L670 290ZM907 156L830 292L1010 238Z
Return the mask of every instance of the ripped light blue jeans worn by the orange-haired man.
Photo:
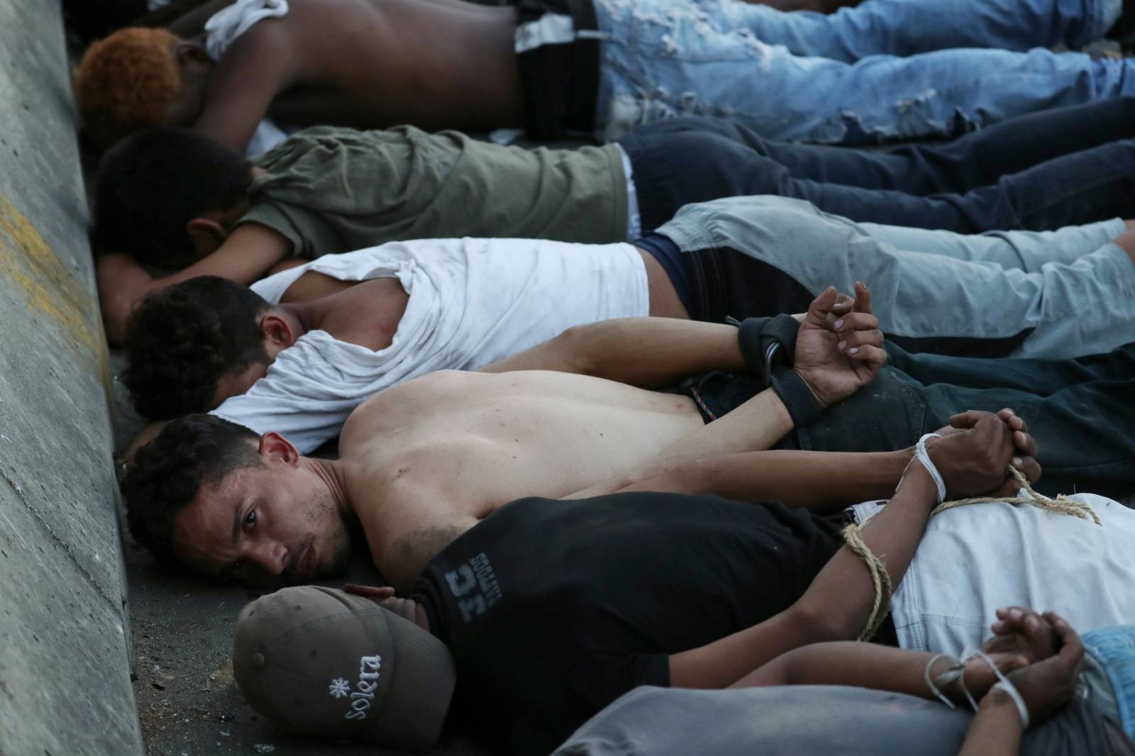
M603 40L596 127L613 140L637 124L703 115L746 123L766 138L869 143L1135 94L1127 60L942 49L1075 45L1102 35L1119 6L867 0L823 16L735 0L595 0ZM918 51L926 52L894 57Z

